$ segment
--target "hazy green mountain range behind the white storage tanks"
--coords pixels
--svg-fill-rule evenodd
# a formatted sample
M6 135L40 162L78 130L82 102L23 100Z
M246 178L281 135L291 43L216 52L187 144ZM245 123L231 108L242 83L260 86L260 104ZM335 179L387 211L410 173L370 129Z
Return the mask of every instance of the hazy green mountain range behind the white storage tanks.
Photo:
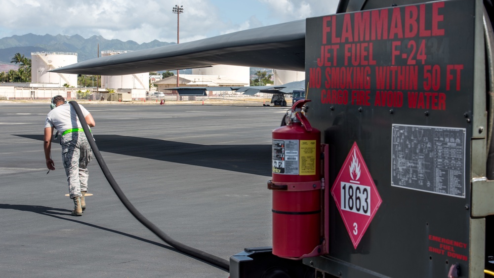
M84 39L79 35L16 35L0 39L0 64L10 64L15 53L31 58L31 52L75 52L78 62L82 62L97 58L98 44L101 52L104 50L141 50L173 43L153 40L139 44L133 40L106 40L101 36Z

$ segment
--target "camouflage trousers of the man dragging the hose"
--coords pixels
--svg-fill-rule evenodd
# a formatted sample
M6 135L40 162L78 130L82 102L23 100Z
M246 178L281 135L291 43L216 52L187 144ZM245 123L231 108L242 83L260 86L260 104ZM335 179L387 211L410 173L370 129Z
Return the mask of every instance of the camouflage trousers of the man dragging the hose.
M84 132L70 132L60 139L62 161L69 182L69 197L82 196L87 191L87 163L92 159L91 146Z

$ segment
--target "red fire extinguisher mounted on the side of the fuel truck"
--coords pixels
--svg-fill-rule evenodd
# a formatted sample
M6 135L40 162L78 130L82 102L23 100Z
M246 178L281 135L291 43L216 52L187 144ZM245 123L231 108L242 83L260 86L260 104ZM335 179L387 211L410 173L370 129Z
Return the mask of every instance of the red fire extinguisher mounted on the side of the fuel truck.
M287 125L273 130L273 254L301 258L321 244L321 132L295 102Z

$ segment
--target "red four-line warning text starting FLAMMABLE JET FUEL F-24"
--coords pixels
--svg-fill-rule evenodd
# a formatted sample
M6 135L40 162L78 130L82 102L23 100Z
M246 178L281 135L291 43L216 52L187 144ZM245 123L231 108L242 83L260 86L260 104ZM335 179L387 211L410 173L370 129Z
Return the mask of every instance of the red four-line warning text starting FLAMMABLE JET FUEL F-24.
M449 4L322 17L309 89L317 89L323 104L447 110L448 95L465 89L465 66L440 63L455 58L444 49L451 45Z

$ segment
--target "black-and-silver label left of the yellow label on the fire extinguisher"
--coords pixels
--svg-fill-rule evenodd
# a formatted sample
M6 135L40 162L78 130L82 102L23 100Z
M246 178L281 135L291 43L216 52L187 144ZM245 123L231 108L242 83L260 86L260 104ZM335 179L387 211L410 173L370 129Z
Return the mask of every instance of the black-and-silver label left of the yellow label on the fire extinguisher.
M299 140L273 140L273 173L298 175Z

